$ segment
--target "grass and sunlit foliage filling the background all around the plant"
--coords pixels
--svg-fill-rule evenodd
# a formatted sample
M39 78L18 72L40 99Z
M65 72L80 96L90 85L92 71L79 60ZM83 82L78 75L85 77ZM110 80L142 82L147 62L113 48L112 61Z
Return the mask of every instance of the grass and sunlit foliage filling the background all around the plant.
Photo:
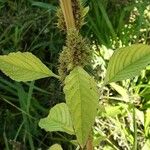
M100 87L114 49L150 43L150 2L83 0L83 3L89 6L89 13L81 32L91 41L94 51L94 71L89 72ZM0 0L0 54L29 51L57 73L57 59L65 40L56 27L57 7L57 0ZM135 140L139 149L148 149L149 70L148 66L140 77L103 89L93 127L95 149L130 150ZM64 102L58 81L47 78L18 83L0 75L0 149L47 149L59 143L64 149L73 150L74 144L70 142L73 136L46 133L38 127L39 119L47 116L52 106Z

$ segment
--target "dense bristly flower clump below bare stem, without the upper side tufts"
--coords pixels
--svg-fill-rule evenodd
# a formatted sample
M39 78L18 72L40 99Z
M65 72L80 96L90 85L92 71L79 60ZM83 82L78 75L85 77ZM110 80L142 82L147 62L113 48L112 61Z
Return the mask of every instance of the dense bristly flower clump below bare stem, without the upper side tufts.
M66 46L63 47L59 57L59 75L62 80L76 66L84 67L92 56L92 51L88 41L83 38L79 31L70 30L67 34Z

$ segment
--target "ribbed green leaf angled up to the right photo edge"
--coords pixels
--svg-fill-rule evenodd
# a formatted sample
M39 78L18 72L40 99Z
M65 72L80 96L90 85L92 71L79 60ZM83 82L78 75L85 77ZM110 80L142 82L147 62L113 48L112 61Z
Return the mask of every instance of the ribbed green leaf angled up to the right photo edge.
M139 75L150 63L150 46L134 44L116 50L111 57L104 83L125 80Z

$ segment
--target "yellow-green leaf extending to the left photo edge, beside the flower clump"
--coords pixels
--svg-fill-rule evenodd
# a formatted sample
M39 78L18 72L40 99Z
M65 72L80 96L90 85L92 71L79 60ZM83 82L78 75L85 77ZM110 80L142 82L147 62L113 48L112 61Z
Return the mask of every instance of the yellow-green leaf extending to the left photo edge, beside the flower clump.
M29 52L0 56L0 70L16 81L32 81L45 77L57 77L36 56Z

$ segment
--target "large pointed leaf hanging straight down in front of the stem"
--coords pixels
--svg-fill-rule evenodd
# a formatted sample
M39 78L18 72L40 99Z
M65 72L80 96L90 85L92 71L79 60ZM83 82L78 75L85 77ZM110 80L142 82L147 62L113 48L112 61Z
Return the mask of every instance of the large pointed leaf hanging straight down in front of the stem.
M84 69L76 67L65 79L64 92L77 141L83 148L97 112L99 95L96 83Z

